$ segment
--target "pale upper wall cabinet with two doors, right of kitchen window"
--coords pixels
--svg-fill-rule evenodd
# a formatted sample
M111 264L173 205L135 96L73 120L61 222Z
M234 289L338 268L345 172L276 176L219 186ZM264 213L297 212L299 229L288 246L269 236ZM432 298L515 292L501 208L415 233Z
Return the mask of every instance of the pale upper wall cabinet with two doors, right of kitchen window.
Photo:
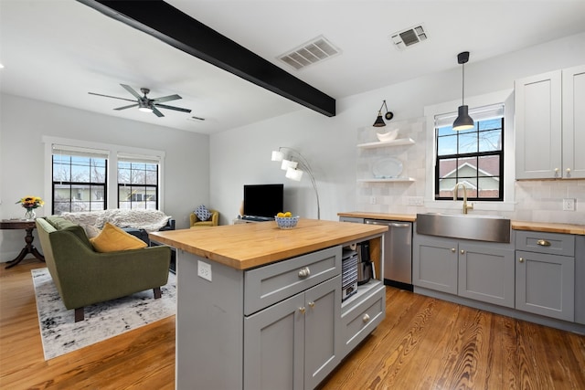
M516 179L585 178L585 65L515 81Z

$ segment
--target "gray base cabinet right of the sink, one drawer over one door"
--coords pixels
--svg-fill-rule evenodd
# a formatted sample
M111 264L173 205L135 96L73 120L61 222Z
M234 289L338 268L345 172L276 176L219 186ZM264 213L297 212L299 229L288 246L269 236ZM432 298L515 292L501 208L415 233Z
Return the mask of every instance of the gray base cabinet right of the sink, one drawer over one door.
M516 309L575 320L575 237L516 233Z

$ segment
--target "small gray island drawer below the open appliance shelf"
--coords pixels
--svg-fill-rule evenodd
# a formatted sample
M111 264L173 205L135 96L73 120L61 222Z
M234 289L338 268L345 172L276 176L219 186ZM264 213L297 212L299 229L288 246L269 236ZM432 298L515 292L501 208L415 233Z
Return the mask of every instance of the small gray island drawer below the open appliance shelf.
M386 288L375 290L367 299L341 316L344 354L353 350L386 317Z

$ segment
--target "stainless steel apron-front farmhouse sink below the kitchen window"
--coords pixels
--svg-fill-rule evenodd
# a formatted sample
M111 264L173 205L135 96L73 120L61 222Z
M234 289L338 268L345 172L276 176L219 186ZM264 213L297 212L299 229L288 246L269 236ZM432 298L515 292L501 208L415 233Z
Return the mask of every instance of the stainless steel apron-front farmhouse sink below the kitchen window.
M417 214L417 233L427 236L510 242L510 220L472 214Z

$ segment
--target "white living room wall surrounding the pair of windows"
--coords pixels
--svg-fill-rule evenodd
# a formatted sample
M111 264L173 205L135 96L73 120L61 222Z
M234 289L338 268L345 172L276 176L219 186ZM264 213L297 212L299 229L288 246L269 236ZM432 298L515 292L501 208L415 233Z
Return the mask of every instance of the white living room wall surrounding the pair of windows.
M177 227L188 227L188 215L209 200L209 137L152 124L80 111L39 100L1 97L0 218L23 217L15 202L44 194L43 136L112 143L165 152L164 205ZM110 205L112 207L112 205ZM50 215L50 206L37 208ZM0 259L15 258L24 247L23 230L0 230ZM37 247L39 244L35 241Z

